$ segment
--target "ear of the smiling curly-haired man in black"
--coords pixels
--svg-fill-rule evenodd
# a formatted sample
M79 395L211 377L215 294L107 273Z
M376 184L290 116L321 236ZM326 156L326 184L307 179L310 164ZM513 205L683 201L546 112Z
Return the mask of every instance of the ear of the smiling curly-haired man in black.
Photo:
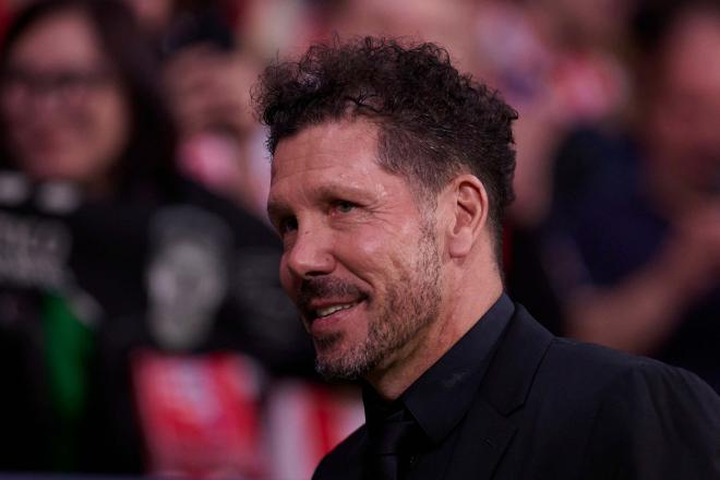
M473 175L456 177L448 185L453 202L447 229L447 250L451 257L467 256L488 221L488 192Z

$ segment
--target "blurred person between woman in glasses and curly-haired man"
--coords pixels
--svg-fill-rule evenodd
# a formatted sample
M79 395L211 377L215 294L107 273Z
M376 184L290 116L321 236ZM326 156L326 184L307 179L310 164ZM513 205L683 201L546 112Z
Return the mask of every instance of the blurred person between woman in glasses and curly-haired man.
M179 128L178 166L265 220L267 160L250 87L261 60L237 32L251 5L228 1L125 0L163 65Z

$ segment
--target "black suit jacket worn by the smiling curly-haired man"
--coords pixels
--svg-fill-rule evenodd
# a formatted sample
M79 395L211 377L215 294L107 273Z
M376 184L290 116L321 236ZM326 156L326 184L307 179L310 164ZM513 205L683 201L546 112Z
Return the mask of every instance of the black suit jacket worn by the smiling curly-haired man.
M720 398L694 374L554 337L517 305L444 473L409 479L720 479ZM361 479L361 427L314 479Z

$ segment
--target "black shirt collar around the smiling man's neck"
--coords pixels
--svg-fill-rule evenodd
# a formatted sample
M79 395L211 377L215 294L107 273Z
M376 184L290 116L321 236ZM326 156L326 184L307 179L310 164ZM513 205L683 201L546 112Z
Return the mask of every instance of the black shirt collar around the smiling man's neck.
M363 403L369 427L388 410L405 407L428 439L440 443L470 407L493 347L514 312L515 305L503 293L470 331L392 405L383 405L377 394L365 385Z

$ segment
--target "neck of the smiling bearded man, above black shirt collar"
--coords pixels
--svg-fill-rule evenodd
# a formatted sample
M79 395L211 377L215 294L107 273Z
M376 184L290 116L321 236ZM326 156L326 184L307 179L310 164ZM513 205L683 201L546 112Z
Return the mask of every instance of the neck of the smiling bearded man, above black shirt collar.
M385 400L397 399L440 360L497 301L503 285L497 272L485 278L465 278L443 300L445 313L370 372L365 380ZM481 291L477 286L482 285Z

